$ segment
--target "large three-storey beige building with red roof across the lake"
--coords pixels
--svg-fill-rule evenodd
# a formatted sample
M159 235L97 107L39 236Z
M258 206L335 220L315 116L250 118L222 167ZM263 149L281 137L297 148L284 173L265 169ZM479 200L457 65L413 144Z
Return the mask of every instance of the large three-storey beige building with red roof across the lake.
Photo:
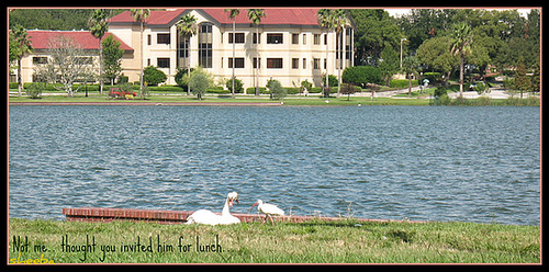
M259 86L269 79L292 87L302 80L321 86L322 75L338 75L336 57L345 56L343 68L352 66L354 23L345 31L344 49L336 56L336 33L318 26L318 9L265 9L259 26L251 24L247 10L240 9L233 20L224 9L173 9L152 11L141 39L139 23L125 11L110 21L109 31L134 49L133 58L123 60L124 73L130 81L138 81L141 52L144 66L155 66L168 76L167 84L175 84L177 68L201 66L216 80L235 77L245 88L255 87L255 59L259 60ZM190 41L179 35L176 23L186 14L197 19L198 33ZM256 38L256 31L259 38ZM326 39L327 36L327 39ZM259 43L257 43L259 41ZM336 44L337 43L337 44ZM233 59L233 45L235 58Z

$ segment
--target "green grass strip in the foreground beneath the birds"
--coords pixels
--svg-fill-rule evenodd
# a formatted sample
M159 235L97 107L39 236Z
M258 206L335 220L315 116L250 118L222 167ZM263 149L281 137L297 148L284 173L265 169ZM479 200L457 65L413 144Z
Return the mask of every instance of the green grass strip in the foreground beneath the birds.
M26 250L21 247L25 238ZM64 241L67 245L66 238L71 246L68 249L61 247ZM206 248L209 245L213 246ZM86 248L87 252L81 251ZM109 252L108 248L114 250ZM473 223L357 224L352 219L259 227L259 223L203 226L10 218L9 259L16 258L46 258L55 263L539 263L540 228Z

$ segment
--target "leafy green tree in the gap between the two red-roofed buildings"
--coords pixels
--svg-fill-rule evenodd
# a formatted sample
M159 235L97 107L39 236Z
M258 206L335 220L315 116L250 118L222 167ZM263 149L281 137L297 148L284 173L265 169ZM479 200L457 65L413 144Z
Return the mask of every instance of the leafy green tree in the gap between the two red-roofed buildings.
M121 43L112 35L107 36L102 44L102 59L103 59L103 73L104 77L114 84L114 80L122 72L122 56L124 55L124 49L120 48Z

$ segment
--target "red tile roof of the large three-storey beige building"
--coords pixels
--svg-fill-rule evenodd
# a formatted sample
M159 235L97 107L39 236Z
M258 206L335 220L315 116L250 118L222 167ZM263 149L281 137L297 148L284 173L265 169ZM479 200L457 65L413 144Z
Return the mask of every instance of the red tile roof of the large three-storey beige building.
M190 10L190 9L189 9ZM233 20L228 18L225 9L194 9L202 10L215 21L222 24L232 24ZM168 25L177 22L183 14L186 9L177 9L172 11L150 11L146 23L149 25ZM265 9L266 16L261 19L262 25L272 24L294 24L294 25L318 25L316 12L318 9ZM247 9L240 9L240 14L236 16L237 24L249 24ZM111 19L111 23L132 23L135 20L131 16L130 11L124 11Z

